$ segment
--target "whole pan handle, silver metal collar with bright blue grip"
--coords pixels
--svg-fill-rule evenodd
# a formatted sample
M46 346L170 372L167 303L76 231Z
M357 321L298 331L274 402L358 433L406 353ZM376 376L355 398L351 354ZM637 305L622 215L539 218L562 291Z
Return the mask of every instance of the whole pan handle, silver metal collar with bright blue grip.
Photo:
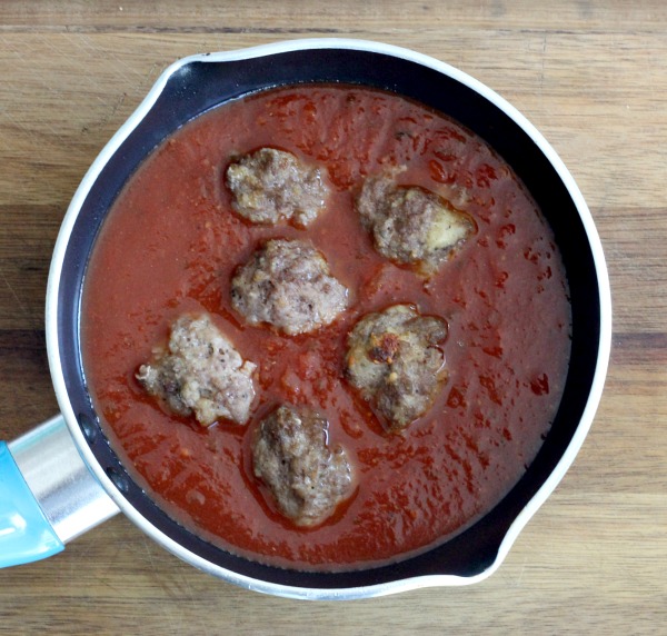
M54 555L118 511L61 415L0 443L0 567Z

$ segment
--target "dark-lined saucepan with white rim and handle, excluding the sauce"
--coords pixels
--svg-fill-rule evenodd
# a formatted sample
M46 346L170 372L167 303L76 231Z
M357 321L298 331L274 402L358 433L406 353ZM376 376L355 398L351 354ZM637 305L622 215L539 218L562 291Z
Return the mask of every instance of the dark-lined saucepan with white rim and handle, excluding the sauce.
M395 91L484 138L514 168L550 222L571 295L571 359L563 400L521 479L485 517L439 547L352 572L266 566L229 554L177 524L132 480L109 445L81 362L79 316L87 264L109 207L142 159L210 108L302 82ZM524 116L486 86L432 58L377 42L320 39L193 56L163 72L73 196L53 251L46 329L61 415L0 444L0 565L56 554L121 510L176 556L232 584L295 598L351 599L471 584L500 566L571 465L593 423L609 358L611 301L601 245L584 198L554 149Z

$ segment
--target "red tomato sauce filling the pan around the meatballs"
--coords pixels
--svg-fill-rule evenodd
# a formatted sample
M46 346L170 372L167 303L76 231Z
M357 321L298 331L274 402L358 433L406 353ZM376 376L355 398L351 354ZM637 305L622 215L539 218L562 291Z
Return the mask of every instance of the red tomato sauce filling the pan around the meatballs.
M307 230L255 227L223 182L235 152L262 146L325 166L331 196ZM407 166L458 205L477 235L425 281L380 257L352 201L366 175ZM313 334L243 325L230 308L235 268L269 237L308 238L350 290L351 308ZM429 413L387 435L342 379L346 335L396 302L449 325L449 378ZM202 428L166 413L135 379L185 311L208 311L258 364L247 427ZM237 554L340 569L412 554L488 511L534 459L560 400L570 315L564 268L530 197L479 138L397 96L351 87L267 91L220 107L162 143L130 180L89 265L83 362L104 430L138 483L177 520ZM351 499L298 529L272 507L249 464L258 420L280 403L329 420L351 458Z

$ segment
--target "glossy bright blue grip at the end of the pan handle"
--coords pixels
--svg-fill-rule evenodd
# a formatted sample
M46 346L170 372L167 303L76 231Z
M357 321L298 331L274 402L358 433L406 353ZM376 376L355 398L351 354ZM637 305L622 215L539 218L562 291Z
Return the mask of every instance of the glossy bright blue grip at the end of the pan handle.
M47 558L63 548L7 444L0 441L0 567Z

